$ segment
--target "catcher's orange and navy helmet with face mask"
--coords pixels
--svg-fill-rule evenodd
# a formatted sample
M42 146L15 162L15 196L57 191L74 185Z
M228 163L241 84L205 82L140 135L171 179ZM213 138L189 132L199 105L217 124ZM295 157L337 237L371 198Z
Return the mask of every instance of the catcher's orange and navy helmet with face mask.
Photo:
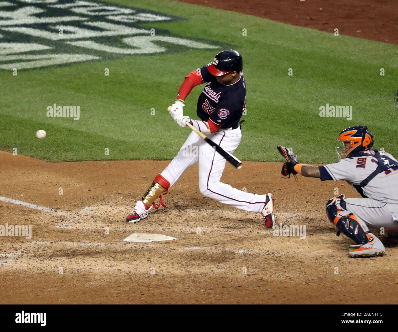
M351 158L373 146L373 134L368 130L367 126L353 126L345 128L339 134L338 141L343 142L343 146L336 147L339 160L341 158ZM345 142L349 144L345 144Z

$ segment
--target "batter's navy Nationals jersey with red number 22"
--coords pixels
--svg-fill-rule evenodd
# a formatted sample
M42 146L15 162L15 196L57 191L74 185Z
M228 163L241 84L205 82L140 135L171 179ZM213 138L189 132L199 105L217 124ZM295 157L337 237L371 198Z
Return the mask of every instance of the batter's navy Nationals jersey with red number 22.
M206 66L199 69L203 82L207 82L197 103L197 116L203 121L213 121L227 129L238 126L246 107L246 84L243 73L235 83L226 85L217 82Z

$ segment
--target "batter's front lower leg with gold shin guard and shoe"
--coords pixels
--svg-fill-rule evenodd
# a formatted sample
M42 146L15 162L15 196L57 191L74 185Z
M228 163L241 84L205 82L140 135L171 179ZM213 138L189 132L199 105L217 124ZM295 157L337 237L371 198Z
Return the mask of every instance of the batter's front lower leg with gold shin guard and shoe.
M146 218L151 205L155 209L159 208L159 206L166 208L166 204L163 203L162 195L166 195L168 193L169 187L170 182L162 177L162 175L158 174L149 186L148 190L146 190L144 196L142 196L141 200L135 205L134 210L126 217L126 221L128 223L137 223L141 219ZM157 198L160 199L159 205L156 205L155 203Z

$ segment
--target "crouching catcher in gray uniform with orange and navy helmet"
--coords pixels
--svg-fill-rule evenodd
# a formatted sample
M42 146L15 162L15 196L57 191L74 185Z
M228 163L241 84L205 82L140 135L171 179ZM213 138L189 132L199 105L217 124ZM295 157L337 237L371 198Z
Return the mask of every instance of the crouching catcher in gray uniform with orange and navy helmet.
M324 166L297 163L292 151L279 146L287 158L282 174L300 173L322 181L345 180L362 198L339 195L326 203L328 219L357 244L349 246L351 257L381 256L384 245L368 227L398 229L398 161L389 153L371 149L373 135L366 126L344 129L336 148L339 161Z

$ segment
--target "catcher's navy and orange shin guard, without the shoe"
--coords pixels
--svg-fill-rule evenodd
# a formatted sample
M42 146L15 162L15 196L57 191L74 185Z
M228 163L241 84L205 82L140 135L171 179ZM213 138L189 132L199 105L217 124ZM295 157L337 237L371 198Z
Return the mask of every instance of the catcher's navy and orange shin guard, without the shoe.
M347 211L344 195L328 200L326 203L326 214L329 220L338 228L337 236L339 236L340 232L343 232L347 237L362 245L373 241L373 237L367 235L371 231L365 231L359 224L355 214Z

